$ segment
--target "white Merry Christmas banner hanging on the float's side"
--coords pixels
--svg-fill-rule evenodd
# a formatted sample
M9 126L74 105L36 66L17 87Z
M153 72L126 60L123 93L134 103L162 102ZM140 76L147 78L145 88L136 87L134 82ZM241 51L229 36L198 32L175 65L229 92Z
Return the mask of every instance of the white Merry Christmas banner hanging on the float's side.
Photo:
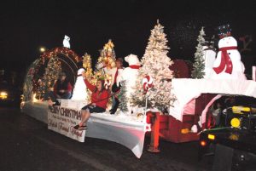
M48 128L57 133L64 134L73 140L84 142L85 130L73 128L80 122L81 118L81 111L61 107L60 105L49 105Z

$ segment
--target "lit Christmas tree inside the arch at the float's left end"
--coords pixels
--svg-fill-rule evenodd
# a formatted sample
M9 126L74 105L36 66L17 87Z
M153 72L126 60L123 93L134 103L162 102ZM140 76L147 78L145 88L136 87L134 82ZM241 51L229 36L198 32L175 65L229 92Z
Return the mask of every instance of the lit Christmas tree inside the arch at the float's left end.
M48 65L45 68L44 76L39 83L38 91L36 98L44 98L49 90L53 90L55 81L58 79L59 74L61 73L61 61L58 60L56 56L53 56L49 59Z

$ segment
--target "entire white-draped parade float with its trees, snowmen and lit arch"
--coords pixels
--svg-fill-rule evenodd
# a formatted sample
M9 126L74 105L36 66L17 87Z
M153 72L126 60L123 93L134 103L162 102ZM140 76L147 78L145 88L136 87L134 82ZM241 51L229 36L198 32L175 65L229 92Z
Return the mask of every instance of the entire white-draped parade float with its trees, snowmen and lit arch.
M90 102L90 92L84 90L86 87L79 78L82 67L79 64L83 64L90 83L102 77L108 88L112 78L104 67L115 67L113 43L109 40L102 48L93 71L90 55L80 58L65 39L65 47L46 51L28 68L21 109L47 123L49 129L74 140L84 142L84 137L92 137L114 141L131 149L138 158L142 156L147 132L151 132L148 151L153 152L159 151L159 138L176 143L199 140L201 130L212 127L208 109L215 100L224 94L256 98L256 83L244 76L236 39L230 33L221 36L215 59L214 48L206 47L202 28L189 78L191 65L167 56L164 26L158 21L142 60L135 54L125 57L129 66L117 78L122 88L119 94L114 94L120 100L118 111L110 115L109 98L106 112L91 114L87 130L73 128L81 120L80 109ZM51 106L42 97L53 87L61 71L67 72L73 83L73 98L60 100L60 106Z

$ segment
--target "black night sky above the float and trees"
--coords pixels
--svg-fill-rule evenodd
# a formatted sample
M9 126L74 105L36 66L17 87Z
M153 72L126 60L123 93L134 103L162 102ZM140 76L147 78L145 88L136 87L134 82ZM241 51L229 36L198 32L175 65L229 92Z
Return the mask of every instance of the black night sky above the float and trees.
M12 1L1 4L1 67L26 68L39 57L39 47L62 47L64 35L71 48L93 59L108 39L117 57L141 58L156 20L165 26L171 59L193 60L201 26L207 37L229 23L238 40L256 31L256 5L252 1ZM217 37L218 38L218 37ZM218 41L218 39L217 39ZM255 51L255 43L251 45ZM255 53L254 53L255 54ZM254 60L255 61L255 60Z

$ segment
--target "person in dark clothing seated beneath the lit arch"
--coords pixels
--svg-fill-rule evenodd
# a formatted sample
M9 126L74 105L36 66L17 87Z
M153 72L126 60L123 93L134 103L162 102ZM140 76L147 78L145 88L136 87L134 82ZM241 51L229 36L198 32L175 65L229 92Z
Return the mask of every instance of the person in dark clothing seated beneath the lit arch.
M49 105L60 105L56 99L70 99L72 96L72 85L67 80L65 72L61 72L58 80L55 82L54 90L44 96L44 100L49 100Z

